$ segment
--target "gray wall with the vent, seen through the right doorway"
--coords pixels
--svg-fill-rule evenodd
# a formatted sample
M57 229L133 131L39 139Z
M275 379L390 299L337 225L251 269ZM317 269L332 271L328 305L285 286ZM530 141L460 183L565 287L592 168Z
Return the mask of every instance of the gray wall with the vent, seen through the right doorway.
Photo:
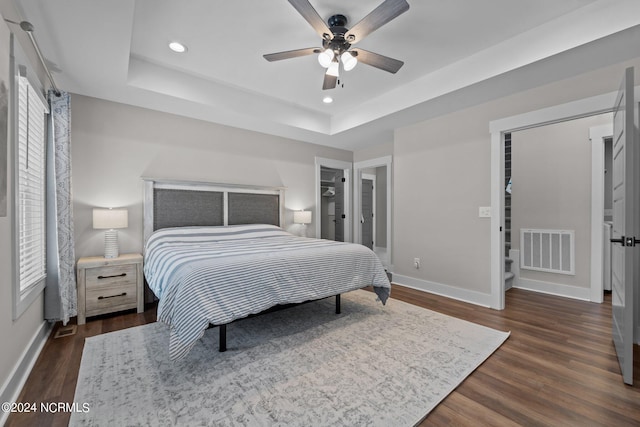
M512 248L520 248L522 228L575 231L575 276L521 270L520 277L590 287L589 128L611 120L611 115L606 114L511 134Z

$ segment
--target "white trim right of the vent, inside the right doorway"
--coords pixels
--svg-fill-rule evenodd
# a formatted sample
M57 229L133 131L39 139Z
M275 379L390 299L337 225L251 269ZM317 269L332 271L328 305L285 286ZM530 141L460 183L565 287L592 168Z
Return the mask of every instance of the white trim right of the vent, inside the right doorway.
M602 303L604 236L604 140L613 135L613 123L589 129L591 140L591 301Z

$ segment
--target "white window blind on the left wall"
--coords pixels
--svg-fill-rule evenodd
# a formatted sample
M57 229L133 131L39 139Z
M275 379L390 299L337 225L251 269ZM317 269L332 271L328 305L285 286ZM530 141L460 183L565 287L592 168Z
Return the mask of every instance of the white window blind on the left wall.
M45 114L26 77L18 83L18 257L20 293L45 278Z

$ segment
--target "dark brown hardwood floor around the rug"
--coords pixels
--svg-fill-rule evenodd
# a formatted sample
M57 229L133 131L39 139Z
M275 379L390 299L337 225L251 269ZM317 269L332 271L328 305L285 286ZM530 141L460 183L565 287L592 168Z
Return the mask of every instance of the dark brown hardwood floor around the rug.
M511 331L509 339L421 426L638 426L640 351L634 387L622 382L604 304L513 289L491 310L395 286L392 297ZM155 309L91 319L46 343L19 402L72 402L86 337L155 321ZM114 408L117 410L117 408ZM7 426L66 426L69 414L11 414Z

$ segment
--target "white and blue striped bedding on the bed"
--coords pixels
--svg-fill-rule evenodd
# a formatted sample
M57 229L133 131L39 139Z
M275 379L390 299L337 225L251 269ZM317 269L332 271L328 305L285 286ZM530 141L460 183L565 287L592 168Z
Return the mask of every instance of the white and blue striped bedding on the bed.
M390 284L377 256L352 243L294 236L272 225L165 228L145 247L144 274L170 325L171 359L184 357L209 324L278 304Z

